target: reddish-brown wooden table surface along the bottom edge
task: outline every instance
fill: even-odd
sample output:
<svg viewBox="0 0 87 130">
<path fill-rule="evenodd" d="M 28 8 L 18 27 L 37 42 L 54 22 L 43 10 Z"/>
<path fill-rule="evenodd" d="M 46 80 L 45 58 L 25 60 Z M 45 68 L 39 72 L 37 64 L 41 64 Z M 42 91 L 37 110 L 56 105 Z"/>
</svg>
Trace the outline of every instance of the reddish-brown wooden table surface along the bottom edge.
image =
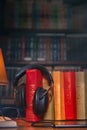
<svg viewBox="0 0 87 130">
<path fill-rule="evenodd" d="M 23 119 L 16 119 L 17 127 L 9 128 L 9 130 L 87 130 L 87 128 L 53 128 L 53 127 L 34 127 L 31 123 L 26 122 Z M 0 130 L 8 130 L 8 128 L 0 128 Z"/>
</svg>

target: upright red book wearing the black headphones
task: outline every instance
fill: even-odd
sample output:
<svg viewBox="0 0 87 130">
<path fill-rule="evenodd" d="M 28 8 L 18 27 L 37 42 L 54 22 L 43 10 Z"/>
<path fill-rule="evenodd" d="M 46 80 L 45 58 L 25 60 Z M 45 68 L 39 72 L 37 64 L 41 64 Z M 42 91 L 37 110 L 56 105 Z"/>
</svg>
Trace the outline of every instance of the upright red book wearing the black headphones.
<svg viewBox="0 0 87 130">
<path fill-rule="evenodd" d="M 42 73 L 37 69 L 26 70 L 26 120 L 30 122 L 39 121 L 41 117 L 34 114 L 33 98 L 38 87 L 42 86 Z"/>
</svg>

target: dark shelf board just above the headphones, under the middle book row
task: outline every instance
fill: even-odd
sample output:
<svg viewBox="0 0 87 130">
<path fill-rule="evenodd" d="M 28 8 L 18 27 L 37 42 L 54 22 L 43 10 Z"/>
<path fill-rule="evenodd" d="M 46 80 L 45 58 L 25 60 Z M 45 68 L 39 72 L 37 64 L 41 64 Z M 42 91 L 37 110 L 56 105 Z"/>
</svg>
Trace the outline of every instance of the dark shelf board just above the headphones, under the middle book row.
<svg viewBox="0 0 87 130">
<path fill-rule="evenodd" d="M 28 64 L 41 64 L 44 66 L 81 66 L 81 67 L 87 67 L 87 61 L 55 61 L 55 62 L 47 62 L 47 61 L 11 61 L 11 62 L 6 62 L 6 66 L 25 66 Z"/>
</svg>

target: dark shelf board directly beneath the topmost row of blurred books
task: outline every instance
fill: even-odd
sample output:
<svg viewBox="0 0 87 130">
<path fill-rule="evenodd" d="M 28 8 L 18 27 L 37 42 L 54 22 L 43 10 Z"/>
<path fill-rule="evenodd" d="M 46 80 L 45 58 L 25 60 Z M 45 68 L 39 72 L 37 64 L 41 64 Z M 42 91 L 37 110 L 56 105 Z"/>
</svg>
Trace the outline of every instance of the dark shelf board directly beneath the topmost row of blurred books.
<svg viewBox="0 0 87 130">
<path fill-rule="evenodd" d="M 56 36 L 66 36 L 67 34 L 78 34 L 81 33 L 79 30 L 74 29 L 19 29 L 19 28 L 6 28 L 0 30 L 0 35 L 17 35 L 17 34 L 26 34 L 26 35 L 55 35 Z"/>
</svg>

